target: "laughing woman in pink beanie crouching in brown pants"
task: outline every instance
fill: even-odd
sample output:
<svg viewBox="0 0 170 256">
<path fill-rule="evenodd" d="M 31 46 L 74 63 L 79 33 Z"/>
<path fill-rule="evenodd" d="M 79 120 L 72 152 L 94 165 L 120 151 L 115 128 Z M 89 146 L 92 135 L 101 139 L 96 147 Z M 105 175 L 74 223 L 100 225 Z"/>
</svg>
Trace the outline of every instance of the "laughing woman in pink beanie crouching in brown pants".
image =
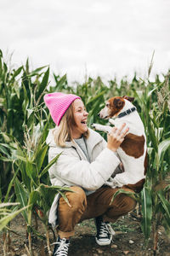
<svg viewBox="0 0 170 256">
<path fill-rule="evenodd" d="M 71 187 L 75 192 L 65 193 L 69 205 L 57 195 L 50 209 L 49 223 L 57 226 L 59 235 L 53 255 L 68 255 L 75 225 L 88 218 L 95 220 L 96 242 L 100 246 L 109 245 L 112 240 L 109 222 L 114 223 L 136 205 L 125 194 L 117 195 L 111 203 L 117 188 L 105 185 L 120 165 L 116 149 L 128 128 L 123 129 L 125 124 L 120 129 L 114 127 L 106 143 L 99 133 L 88 128 L 88 112 L 79 96 L 55 92 L 45 95 L 44 102 L 56 125 L 47 138 L 48 160 L 61 153 L 49 169 L 51 183 Z"/>
</svg>

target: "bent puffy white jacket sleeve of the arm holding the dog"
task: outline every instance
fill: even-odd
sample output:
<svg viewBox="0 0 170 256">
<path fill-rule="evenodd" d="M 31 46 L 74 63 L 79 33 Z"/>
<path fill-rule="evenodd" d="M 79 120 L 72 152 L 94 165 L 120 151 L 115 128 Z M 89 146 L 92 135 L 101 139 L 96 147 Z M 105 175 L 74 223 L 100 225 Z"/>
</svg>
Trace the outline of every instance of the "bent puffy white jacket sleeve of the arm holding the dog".
<svg viewBox="0 0 170 256">
<path fill-rule="evenodd" d="M 56 151 L 54 148 L 50 152 L 49 148 L 50 159 L 59 153 L 59 150 Z M 120 160 L 109 148 L 103 149 L 92 163 L 80 160 L 78 154 L 77 156 L 68 154 L 64 149 L 57 162 L 49 169 L 49 173 L 51 177 L 62 180 L 65 185 L 77 185 L 83 189 L 95 190 L 111 177 L 119 164 Z"/>
</svg>

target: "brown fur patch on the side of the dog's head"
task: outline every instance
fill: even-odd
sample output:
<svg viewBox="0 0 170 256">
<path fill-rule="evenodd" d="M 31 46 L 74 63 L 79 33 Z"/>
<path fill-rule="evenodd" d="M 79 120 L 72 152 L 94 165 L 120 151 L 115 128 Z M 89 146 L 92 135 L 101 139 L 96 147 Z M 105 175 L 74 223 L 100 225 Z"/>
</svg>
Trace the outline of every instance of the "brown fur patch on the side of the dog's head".
<svg viewBox="0 0 170 256">
<path fill-rule="evenodd" d="M 113 117 L 116 113 L 119 113 L 125 105 L 124 99 L 118 96 L 109 99 L 108 103 L 108 108 L 110 109 L 110 117 Z"/>
</svg>

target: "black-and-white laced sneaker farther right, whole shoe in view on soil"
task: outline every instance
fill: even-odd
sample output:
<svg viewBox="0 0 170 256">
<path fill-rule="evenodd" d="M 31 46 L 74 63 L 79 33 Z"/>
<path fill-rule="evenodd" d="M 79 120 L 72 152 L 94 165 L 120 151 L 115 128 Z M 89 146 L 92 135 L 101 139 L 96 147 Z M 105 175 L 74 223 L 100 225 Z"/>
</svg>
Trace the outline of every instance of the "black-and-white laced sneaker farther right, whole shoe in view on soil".
<svg viewBox="0 0 170 256">
<path fill-rule="evenodd" d="M 111 228 L 111 224 L 104 222 L 101 216 L 94 219 L 97 228 L 97 236 L 95 241 L 99 246 L 110 245 L 115 231 Z"/>
</svg>

